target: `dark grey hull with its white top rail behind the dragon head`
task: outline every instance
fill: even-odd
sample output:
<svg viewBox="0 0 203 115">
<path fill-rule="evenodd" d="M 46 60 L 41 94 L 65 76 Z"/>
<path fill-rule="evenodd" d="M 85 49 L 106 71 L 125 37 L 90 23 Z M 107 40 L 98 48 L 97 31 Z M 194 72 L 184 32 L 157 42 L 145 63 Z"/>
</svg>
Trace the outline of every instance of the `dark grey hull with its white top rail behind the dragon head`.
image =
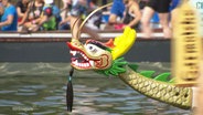
<svg viewBox="0 0 203 115">
<path fill-rule="evenodd" d="M 122 31 L 98 31 L 101 42 L 114 39 Z M 129 62 L 170 62 L 170 40 L 164 40 L 157 31 L 151 39 L 141 39 L 137 33 L 137 41 L 131 50 L 125 54 Z M 70 62 L 70 50 L 66 42 L 71 41 L 68 31 L 46 31 L 36 33 L 0 33 L 0 62 Z M 82 34 L 81 40 L 89 39 Z"/>
</svg>

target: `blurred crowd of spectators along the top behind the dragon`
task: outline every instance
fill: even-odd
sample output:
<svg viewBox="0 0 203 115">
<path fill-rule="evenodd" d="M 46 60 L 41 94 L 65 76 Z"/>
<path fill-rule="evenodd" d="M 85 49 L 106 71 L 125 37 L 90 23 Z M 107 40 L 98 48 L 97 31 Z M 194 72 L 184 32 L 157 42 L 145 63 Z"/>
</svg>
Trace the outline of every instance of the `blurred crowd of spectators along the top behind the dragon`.
<svg viewBox="0 0 203 115">
<path fill-rule="evenodd" d="M 99 2 L 98 2 L 99 1 Z M 107 4 L 107 0 L 62 0 L 58 8 L 54 0 L 0 0 L 1 31 L 42 31 L 78 29 L 92 11 Z M 164 38 L 171 38 L 170 12 L 179 0 L 113 0 L 113 6 L 90 17 L 83 31 L 131 27 L 150 38 L 151 23 L 159 22 Z M 154 20 L 154 14 L 157 19 Z M 76 21 L 79 19 L 78 21 Z M 76 22 L 76 23 L 75 23 Z M 96 35 L 92 33 L 93 35 Z M 75 33 L 75 38 L 77 33 Z"/>
</svg>

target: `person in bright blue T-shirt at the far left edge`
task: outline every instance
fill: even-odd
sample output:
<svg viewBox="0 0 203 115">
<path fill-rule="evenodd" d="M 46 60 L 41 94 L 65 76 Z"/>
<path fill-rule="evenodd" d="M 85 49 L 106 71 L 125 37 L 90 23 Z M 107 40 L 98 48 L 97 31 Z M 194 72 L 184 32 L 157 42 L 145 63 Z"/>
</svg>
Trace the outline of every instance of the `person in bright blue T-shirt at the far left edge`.
<svg viewBox="0 0 203 115">
<path fill-rule="evenodd" d="M 15 7 L 11 4 L 11 0 L 2 0 L 2 4 L 4 12 L 0 22 L 1 31 L 17 31 L 18 14 Z"/>
</svg>

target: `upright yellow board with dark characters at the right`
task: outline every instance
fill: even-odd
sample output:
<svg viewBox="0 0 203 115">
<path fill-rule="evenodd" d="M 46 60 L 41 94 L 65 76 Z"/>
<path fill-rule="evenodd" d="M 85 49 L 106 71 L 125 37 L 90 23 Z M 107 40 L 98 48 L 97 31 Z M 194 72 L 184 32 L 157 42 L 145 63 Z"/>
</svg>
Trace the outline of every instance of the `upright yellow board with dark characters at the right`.
<svg viewBox="0 0 203 115">
<path fill-rule="evenodd" d="M 202 39 L 194 7 L 188 0 L 177 9 L 172 39 L 172 76 L 180 86 L 194 86 L 200 77 Z"/>
</svg>

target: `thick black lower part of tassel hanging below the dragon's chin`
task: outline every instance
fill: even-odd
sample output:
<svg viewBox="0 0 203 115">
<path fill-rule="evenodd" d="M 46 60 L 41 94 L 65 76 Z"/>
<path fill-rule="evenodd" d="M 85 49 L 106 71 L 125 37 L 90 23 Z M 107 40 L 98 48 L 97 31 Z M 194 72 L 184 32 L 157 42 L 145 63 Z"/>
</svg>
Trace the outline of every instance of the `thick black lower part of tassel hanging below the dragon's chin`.
<svg viewBox="0 0 203 115">
<path fill-rule="evenodd" d="M 73 107 L 73 85 L 72 82 L 68 81 L 67 83 L 67 88 L 66 88 L 66 106 L 67 106 L 67 112 L 72 112 Z"/>
</svg>

